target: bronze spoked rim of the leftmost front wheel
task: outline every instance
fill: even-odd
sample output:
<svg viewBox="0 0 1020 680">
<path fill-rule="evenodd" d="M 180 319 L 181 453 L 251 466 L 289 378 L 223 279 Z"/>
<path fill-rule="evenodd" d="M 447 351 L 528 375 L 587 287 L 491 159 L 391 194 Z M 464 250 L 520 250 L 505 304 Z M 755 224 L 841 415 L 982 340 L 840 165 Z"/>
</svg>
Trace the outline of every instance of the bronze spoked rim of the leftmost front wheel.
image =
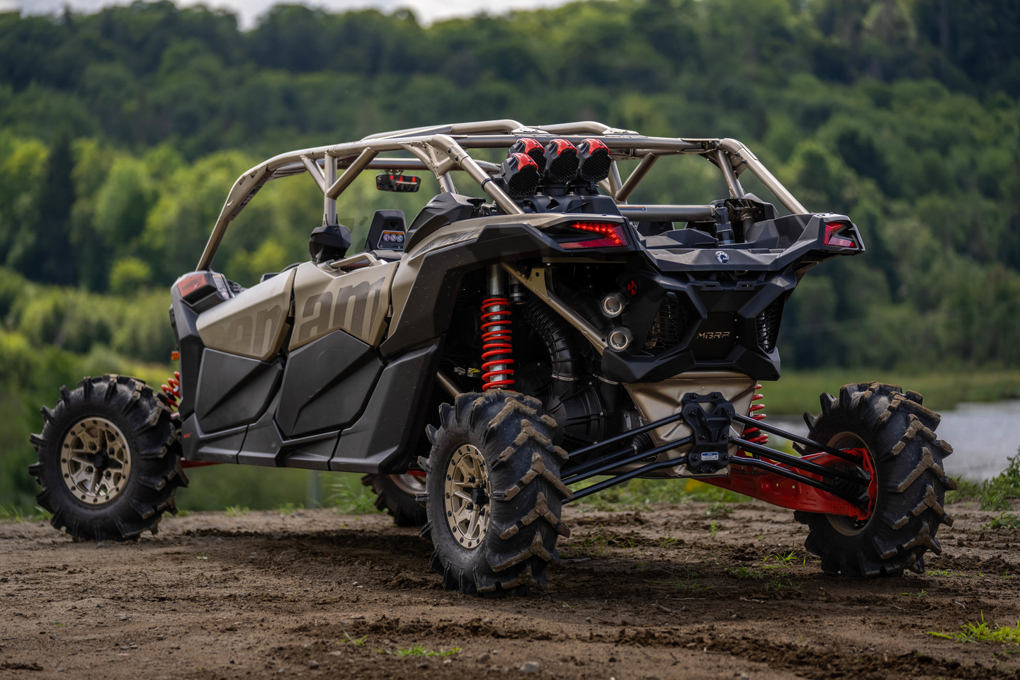
<svg viewBox="0 0 1020 680">
<path fill-rule="evenodd" d="M 106 418 L 83 418 L 60 447 L 60 472 L 75 499 L 101 506 L 120 494 L 131 477 L 131 449 Z"/>
</svg>

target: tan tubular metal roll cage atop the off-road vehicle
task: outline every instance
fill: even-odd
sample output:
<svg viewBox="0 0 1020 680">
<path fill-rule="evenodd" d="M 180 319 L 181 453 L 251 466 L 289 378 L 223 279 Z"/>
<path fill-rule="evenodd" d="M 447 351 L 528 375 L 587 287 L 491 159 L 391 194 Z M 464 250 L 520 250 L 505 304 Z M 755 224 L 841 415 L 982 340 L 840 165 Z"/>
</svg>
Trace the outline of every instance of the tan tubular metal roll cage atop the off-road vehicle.
<svg viewBox="0 0 1020 680">
<path fill-rule="evenodd" d="M 680 215 L 681 218 L 690 215 L 694 219 L 701 219 L 704 215 L 711 214 L 707 205 L 626 205 L 626 199 L 659 157 L 680 154 L 704 156 L 718 165 L 731 198 L 744 195 L 737 177 L 745 170 L 750 170 L 786 210 L 794 214 L 808 212 L 762 165 L 758 157 L 736 140 L 644 137 L 633 130 L 610 127 L 593 120 L 539 127 L 528 127 L 510 119 L 486 120 L 379 133 L 358 142 L 299 149 L 263 161 L 238 177 L 231 188 L 197 269 L 208 269 L 212 265 L 227 224 L 267 181 L 304 172 L 309 173 L 322 192 L 323 213 L 330 216 L 336 215 L 337 197 L 361 171 L 367 169 L 428 170 L 440 180 L 443 190 L 448 192 L 455 189 L 449 172 L 463 171 L 505 213 L 521 214 L 523 211 L 517 204 L 493 181 L 492 175 L 499 171 L 499 166 L 472 158 L 467 152 L 469 149 L 506 149 L 521 137 L 530 137 L 543 145 L 555 138 L 569 140 L 575 145 L 584 139 L 595 138 L 605 144 L 610 151 L 612 165 L 609 177 L 600 182 L 600 187 L 613 200 L 622 204 L 620 211 L 624 215 L 627 215 L 628 207 L 634 216 L 646 217 L 651 214 Z M 379 157 L 379 154 L 387 152 L 409 153 L 413 157 Z M 641 162 L 626 179 L 621 179 L 617 161 L 626 159 L 638 159 Z M 338 176 L 339 170 L 344 172 Z"/>
</svg>

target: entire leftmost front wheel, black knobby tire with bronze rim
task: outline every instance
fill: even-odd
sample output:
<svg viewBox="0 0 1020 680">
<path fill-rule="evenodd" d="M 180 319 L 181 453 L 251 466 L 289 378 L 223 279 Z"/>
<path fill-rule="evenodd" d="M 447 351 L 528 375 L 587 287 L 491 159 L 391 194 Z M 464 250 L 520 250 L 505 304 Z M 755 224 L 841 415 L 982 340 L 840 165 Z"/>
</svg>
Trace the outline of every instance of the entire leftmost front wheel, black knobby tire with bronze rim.
<svg viewBox="0 0 1020 680">
<path fill-rule="evenodd" d="M 60 388 L 33 434 L 38 461 L 29 467 L 50 523 L 83 540 L 129 540 L 156 532 L 173 495 L 188 481 L 181 469 L 170 411 L 143 381 L 104 375 Z"/>
</svg>

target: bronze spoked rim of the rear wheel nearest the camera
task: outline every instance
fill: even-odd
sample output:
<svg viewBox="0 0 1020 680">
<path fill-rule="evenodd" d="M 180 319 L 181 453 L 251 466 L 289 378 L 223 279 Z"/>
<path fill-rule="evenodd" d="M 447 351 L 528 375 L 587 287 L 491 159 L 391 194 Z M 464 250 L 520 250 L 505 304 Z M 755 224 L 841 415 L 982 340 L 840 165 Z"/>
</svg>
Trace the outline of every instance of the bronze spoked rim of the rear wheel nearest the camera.
<svg viewBox="0 0 1020 680">
<path fill-rule="evenodd" d="M 477 547 L 489 530 L 492 495 L 486 460 L 477 447 L 465 443 L 454 452 L 443 488 L 447 525 L 454 538 L 464 547 Z"/>
</svg>

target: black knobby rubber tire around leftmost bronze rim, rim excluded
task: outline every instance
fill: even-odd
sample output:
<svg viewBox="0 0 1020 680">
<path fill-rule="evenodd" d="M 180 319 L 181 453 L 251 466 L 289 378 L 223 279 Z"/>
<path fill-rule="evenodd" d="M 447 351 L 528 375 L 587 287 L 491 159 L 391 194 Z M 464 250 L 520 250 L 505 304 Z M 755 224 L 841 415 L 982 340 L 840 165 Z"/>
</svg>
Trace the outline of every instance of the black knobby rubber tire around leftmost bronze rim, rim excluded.
<svg viewBox="0 0 1020 680">
<path fill-rule="evenodd" d="M 88 377 L 72 390 L 62 386 L 56 407 L 43 407 L 42 413 L 43 431 L 31 436 L 38 459 L 29 472 L 42 487 L 36 503 L 53 514 L 55 528 L 80 540 L 133 540 L 146 529 L 156 533 L 164 512 L 176 513 L 174 493 L 188 485 L 177 427 L 145 382 L 123 375 Z M 96 506 L 71 491 L 61 468 L 65 437 L 89 418 L 105 419 L 120 430 L 131 461 L 123 488 Z"/>
</svg>

